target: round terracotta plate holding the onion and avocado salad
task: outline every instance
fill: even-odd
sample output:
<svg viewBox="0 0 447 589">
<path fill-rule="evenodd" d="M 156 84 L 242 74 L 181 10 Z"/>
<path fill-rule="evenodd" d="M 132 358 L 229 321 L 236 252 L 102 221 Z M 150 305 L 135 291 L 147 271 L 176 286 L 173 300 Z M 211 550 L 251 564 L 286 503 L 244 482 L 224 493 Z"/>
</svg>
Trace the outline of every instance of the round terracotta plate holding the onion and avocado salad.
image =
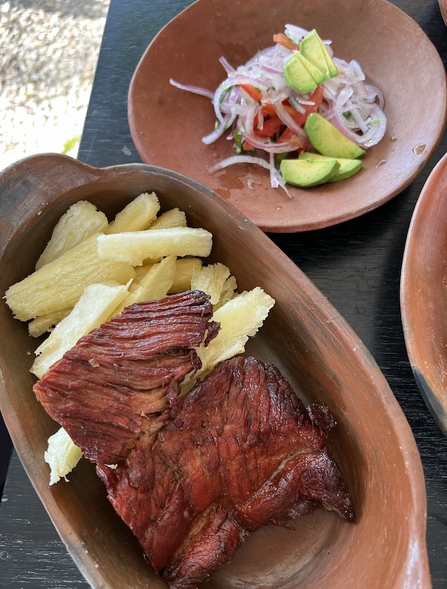
<svg viewBox="0 0 447 589">
<path fill-rule="evenodd" d="M 314 188 L 271 188 L 268 171 L 238 164 L 208 169 L 235 155 L 226 136 L 206 146 L 215 125 L 208 98 L 169 80 L 215 91 L 237 67 L 273 45 L 287 23 L 316 28 L 336 57 L 360 63 L 384 93 L 382 141 L 345 181 Z M 417 50 L 415 50 L 417 47 Z M 403 65 L 404 63 L 404 65 Z M 417 100 L 417 93 L 424 100 Z M 270 232 L 327 227 L 364 214 L 402 192 L 439 144 L 446 122 L 446 73 L 435 46 L 407 14 L 385 0 L 198 0 L 168 23 L 146 49 L 129 88 L 129 125 L 142 161 L 188 175 L 215 190 Z M 411 124 L 408 124 L 411 121 Z"/>
</svg>

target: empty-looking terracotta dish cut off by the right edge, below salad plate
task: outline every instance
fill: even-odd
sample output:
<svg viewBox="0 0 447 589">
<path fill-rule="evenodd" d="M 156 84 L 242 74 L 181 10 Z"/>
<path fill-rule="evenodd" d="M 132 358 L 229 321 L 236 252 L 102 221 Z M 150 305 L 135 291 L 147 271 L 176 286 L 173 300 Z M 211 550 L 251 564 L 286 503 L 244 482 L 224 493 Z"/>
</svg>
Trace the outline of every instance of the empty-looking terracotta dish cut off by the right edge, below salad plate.
<svg viewBox="0 0 447 589">
<path fill-rule="evenodd" d="M 411 368 L 447 436 L 447 155 L 417 200 L 406 240 L 400 304 Z"/>
</svg>

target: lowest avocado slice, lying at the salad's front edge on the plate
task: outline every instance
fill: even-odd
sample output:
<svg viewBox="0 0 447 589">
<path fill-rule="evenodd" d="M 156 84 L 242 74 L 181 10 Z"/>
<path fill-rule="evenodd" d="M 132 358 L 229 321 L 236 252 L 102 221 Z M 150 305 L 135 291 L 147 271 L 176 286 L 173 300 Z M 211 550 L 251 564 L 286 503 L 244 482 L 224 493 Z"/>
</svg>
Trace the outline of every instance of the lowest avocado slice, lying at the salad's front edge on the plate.
<svg viewBox="0 0 447 589">
<path fill-rule="evenodd" d="M 340 164 L 336 159 L 311 162 L 308 159 L 283 159 L 280 164 L 281 174 L 288 184 L 308 188 L 325 184 L 334 176 Z"/>
</svg>

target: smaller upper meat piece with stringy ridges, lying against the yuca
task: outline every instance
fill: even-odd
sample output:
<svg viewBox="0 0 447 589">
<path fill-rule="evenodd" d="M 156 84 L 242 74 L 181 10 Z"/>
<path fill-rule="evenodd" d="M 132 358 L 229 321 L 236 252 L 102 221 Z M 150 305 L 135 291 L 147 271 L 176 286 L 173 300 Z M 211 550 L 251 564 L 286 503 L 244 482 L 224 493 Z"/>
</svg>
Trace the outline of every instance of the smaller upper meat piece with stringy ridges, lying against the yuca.
<svg viewBox="0 0 447 589">
<path fill-rule="evenodd" d="M 36 397 L 89 460 L 117 463 L 161 427 L 179 383 L 200 368 L 193 346 L 217 333 L 211 317 L 200 291 L 133 304 L 82 337 L 34 385 Z"/>
</svg>

